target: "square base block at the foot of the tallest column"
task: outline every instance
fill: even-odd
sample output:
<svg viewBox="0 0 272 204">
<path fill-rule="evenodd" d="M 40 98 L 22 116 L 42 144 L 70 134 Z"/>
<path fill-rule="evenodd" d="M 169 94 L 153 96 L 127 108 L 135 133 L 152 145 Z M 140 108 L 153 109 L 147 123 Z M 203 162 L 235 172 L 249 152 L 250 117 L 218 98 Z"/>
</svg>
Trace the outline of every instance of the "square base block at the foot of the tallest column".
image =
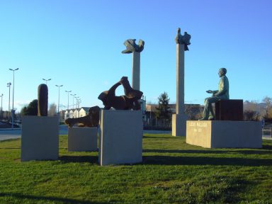
<svg viewBox="0 0 272 204">
<path fill-rule="evenodd" d="M 186 136 L 186 121 L 188 116 L 183 114 L 172 115 L 172 135 L 173 136 Z"/>
</svg>

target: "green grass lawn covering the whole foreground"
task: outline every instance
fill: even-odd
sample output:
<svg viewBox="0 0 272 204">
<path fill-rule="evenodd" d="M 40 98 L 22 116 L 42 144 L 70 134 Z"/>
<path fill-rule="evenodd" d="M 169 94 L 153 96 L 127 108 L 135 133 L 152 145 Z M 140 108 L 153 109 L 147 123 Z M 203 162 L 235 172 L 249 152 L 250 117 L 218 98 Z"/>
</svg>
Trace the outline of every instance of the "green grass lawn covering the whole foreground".
<svg viewBox="0 0 272 204">
<path fill-rule="evenodd" d="M 205 149 L 145 135 L 143 162 L 98 166 L 97 152 L 21 162 L 21 140 L 0 142 L 0 203 L 272 203 L 272 145 Z"/>
</svg>

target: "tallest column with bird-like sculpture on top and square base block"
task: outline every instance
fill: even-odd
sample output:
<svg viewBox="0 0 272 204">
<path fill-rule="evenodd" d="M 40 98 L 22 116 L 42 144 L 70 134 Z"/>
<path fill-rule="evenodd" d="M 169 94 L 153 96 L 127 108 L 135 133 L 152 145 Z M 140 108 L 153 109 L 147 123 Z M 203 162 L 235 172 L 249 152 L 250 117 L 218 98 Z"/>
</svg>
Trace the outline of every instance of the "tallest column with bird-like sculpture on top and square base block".
<svg viewBox="0 0 272 204">
<path fill-rule="evenodd" d="M 191 35 L 184 33 L 178 28 L 176 35 L 176 114 L 172 115 L 172 135 L 186 136 L 186 120 L 184 106 L 184 51 L 188 50 Z"/>
</svg>

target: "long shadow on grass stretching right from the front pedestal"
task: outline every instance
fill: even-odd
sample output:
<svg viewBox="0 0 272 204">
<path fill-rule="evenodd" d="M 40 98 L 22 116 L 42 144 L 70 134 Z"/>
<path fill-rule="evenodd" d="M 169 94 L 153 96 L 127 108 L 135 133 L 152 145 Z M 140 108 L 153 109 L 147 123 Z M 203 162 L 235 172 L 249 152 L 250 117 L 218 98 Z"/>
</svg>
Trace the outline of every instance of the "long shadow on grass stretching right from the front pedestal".
<svg viewBox="0 0 272 204">
<path fill-rule="evenodd" d="M 272 159 L 144 156 L 142 160 L 142 164 L 161 165 L 272 166 Z"/>
</svg>

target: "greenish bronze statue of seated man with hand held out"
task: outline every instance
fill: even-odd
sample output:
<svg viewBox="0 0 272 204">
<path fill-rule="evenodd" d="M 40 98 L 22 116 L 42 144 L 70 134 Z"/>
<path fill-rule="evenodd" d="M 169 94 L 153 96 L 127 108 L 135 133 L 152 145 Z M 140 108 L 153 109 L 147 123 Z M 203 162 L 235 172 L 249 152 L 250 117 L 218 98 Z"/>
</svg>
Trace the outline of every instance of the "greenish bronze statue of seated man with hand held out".
<svg viewBox="0 0 272 204">
<path fill-rule="evenodd" d="M 229 99 L 229 79 L 227 79 L 227 69 L 220 68 L 218 75 L 220 77 L 218 90 L 206 91 L 208 94 L 212 94 L 211 97 L 205 98 L 204 101 L 204 111 L 203 111 L 203 118 L 200 120 L 215 120 L 215 113 L 212 109 L 212 103 L 220 101 L 221 99 Z"/>
</svg>

